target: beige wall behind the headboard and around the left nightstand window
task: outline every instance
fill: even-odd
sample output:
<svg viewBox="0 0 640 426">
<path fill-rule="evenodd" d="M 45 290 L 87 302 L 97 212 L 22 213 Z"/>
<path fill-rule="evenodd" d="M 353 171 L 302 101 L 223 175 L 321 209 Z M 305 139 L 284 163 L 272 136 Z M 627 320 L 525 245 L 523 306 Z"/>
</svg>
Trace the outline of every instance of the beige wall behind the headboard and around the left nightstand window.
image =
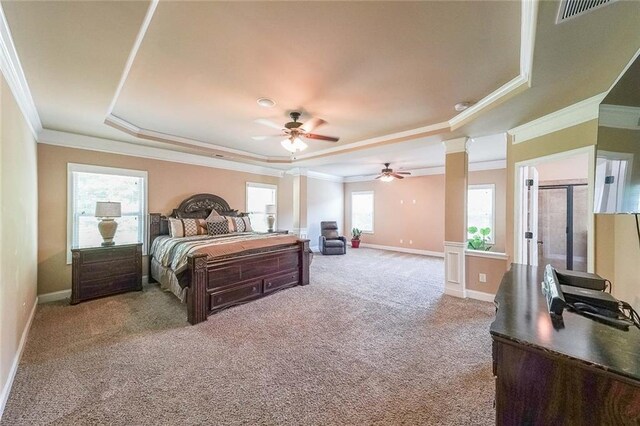
<svg viewBox="0 0 640 426">
<path fill-rule="evenodd" d="M 279 183 L 272 176 L 39 144 L 39 294 L 71 288 L 71 265 L 66 264 L 67 163 L 147 171 L 152 213 L 171 213 L 183 199 L 200 192 L 219 195 L 231 208 L 242 211 L 246 209 L 246 182 Z M 143 265 L 146 268 L 147 262 Z"/>
</svg>

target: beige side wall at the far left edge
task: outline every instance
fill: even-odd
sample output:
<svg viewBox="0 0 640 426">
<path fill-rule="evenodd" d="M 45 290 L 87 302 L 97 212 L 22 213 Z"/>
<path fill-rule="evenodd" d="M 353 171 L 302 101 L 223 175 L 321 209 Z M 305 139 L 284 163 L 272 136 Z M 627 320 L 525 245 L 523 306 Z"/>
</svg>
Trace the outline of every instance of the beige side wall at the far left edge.
<svg viewBox="0 0 640 426">
<path fill-rule="evenodd" d="M 36 143 L 4 78 L 0 88 L 0 415 L 11 366 L 36 303 Z"/>
</svg>

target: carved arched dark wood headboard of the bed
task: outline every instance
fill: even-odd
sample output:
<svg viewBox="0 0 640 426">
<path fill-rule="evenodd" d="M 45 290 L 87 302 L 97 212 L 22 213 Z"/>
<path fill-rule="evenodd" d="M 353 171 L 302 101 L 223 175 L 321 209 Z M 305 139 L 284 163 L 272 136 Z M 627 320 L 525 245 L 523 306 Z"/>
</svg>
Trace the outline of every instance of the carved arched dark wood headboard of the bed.
<svg viewBox="0 0 640 426">
<path fill-rule="evenodd" d="M 239 216 L 238 210 L 232 210 L 224 198 L 213 194 L 196 194 L 182 201 L 178 208 L 173 209 L 169 217 L 182 219 L 206 219 L 215 210 L 222 216 Z M 153 240 L 159 235 L 169 235 L 167 217 L 161 213 L 149 214 L 149 248 Z"/>
</svg>

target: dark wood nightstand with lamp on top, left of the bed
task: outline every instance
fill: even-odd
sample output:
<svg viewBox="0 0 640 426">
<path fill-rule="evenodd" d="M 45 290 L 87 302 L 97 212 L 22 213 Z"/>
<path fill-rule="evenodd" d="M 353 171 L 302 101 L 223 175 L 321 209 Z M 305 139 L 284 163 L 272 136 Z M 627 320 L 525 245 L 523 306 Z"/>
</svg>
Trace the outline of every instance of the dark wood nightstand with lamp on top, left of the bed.
<svg viewBox="0 0 640 426">
<path fill-rule="evenodd" d="M 71 249 L 71 304 L 142 290 L 142 243 Z"/>
</svg>

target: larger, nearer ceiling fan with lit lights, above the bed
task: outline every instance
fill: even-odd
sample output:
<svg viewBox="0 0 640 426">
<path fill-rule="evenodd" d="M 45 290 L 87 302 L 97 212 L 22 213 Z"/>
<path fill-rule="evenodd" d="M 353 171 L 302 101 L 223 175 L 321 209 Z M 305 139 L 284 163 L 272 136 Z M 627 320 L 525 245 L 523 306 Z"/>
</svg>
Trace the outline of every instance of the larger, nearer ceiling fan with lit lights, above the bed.
<svg viewBox="0 0 640 426">
<path fill-rule="evenodd" d="M 289 152 L 302 151 L 307 148 L 307 144 L 301 139 L 316 139 L 327 142 L 338 142 L 340 138 L 336 138 L 333 136 L 324 136 L 318 135 L 316 133 L 311 133 L 314 129 L 326 124 L 327 122 L 321 118 L 312 118 L 305 123 L 300 123 L 298 119 L 302 114 L 297 111 L 292 111 L 289 113 L 289 117 L 291 117 L 290 122 L 285 123 L 284 127 L 279 124 L 274 123 L 271 120 L 266 120 L 261 118 L 256 120 L 256 123 L 260 123 L 264 126 L 271 127 L 272 129 L 278 129 L 282 133 L 278 135 L 267 135 L 267 136 L 252 136 L 254 140 L 264 140 L 269 138 L 280 138 L 285 137 L 280 144 Z"/>
</svg>

